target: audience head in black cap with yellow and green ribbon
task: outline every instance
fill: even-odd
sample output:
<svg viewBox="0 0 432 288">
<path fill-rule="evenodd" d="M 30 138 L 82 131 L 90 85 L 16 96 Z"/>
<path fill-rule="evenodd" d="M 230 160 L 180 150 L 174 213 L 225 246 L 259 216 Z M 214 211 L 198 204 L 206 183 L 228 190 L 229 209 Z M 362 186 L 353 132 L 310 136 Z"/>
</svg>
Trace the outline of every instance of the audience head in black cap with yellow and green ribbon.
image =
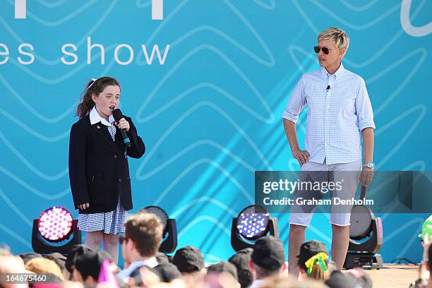
<svg viewBox="0 0 432 288">
<path fill-rule="evenodd" d="M 301 244 L 297 258 L 302 275 L 321 281 L 328 279 L 329 257 L 325 244 L 316 240 L 305 242 Z"/>
</svg>

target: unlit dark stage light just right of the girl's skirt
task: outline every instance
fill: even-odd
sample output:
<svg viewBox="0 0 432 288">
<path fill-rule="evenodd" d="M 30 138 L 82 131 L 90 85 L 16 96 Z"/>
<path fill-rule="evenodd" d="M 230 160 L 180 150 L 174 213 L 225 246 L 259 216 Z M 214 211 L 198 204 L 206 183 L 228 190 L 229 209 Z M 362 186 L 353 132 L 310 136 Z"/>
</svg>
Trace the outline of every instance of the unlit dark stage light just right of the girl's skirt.
<svg viewBox="0 0 432 288">
<path fill-rule="evenodd" d="M 172 253 L 177 248 L 177 225 L 175 219 L 169 219 L 167 212 L 158 206 L 147 206 L 143 208 L 145 212 L 155 214 L 162 222 L 163 234 L 162 243 L 159 251 L 162 253 Z"/>
</svg>

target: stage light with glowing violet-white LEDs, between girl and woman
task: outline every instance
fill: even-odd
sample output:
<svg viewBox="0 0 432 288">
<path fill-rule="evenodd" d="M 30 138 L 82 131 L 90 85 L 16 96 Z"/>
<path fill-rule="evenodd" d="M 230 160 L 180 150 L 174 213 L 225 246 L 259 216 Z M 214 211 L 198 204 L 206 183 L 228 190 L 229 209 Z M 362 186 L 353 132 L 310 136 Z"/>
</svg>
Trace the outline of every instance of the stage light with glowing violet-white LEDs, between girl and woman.
<svg viewBox="0 0 432 288">
<path fill-rule="evenodd" d="M 279 238 L 277 218 L 259 205 L 244 208 L 232 219 L 231 245 L 235 251 L 253 248 L 257 239 L 268 234 Z"/>
</svg>

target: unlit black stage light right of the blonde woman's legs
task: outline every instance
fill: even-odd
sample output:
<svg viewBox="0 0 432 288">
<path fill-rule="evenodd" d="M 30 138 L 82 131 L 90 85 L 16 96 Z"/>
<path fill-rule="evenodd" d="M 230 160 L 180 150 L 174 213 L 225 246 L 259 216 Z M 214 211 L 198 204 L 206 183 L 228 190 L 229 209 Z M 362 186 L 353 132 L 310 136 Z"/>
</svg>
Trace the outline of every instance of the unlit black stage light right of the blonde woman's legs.
<svg viewBox="0 0 432 288">
<path fill-rule="evenodd" d="M 366 199 L 366 187 L 361 186 L 360 199 Z M 344 268 L 371 266 L 383 268 L 383 258 L 376 253 L 383 246 L 383 224 L 365 205 L 354 205 L 349 226 L 349 246 Z"/>
</svg>

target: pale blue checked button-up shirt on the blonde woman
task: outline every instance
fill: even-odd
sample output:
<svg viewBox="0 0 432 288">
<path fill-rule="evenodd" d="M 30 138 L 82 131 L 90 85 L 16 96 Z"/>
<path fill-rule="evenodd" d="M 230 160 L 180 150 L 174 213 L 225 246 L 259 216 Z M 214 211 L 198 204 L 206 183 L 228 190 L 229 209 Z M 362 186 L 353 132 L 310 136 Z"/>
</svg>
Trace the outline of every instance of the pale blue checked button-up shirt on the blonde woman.
<svg viewBox="0 0 432 288">
<path fill-rule="evenodd" d="M 332 75 L 323 67 L 306 73 L 294 88 L 282 117 L 295 124 L 306 105 L 309 161 L 337 164 L 361 159 L 360 133 L 364 128 L 375 128 L 363 78 L 342 63 Z"/>
</svg>

